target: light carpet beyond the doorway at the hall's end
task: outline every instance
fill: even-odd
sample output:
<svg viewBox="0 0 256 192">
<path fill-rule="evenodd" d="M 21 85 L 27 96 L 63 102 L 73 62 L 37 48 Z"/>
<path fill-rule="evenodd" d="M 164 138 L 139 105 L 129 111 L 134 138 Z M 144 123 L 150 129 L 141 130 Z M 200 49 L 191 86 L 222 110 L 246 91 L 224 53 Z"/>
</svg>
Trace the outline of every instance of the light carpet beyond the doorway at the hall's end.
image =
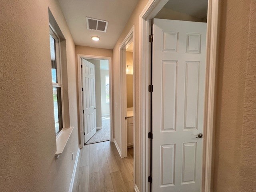
<svg viewBox="0 0 256 192">
<path fill-rule="evenodd" d="M 96 134 L 88 140 L 86 145 L 110 140 L 110 118 L 102 117 L 102 129 L 97 130 Z"/>
</svg>

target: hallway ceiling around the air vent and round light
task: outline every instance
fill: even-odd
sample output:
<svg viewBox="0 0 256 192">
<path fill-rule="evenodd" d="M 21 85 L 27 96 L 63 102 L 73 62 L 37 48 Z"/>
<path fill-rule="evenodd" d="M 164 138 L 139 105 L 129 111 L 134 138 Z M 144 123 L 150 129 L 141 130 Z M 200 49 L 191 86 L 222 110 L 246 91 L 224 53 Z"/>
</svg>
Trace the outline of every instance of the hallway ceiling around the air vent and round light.
<svg viewBox="0 0 256 192">
<path fill-rule="evenodd" d="M 59 0 L 76 45 L 113 49 L 138 0 Z M 108 21 L 107 32 L 86 28 L 86 16 Z M 91 36 L 99 36 L 95 42 Z"/>
</svg>

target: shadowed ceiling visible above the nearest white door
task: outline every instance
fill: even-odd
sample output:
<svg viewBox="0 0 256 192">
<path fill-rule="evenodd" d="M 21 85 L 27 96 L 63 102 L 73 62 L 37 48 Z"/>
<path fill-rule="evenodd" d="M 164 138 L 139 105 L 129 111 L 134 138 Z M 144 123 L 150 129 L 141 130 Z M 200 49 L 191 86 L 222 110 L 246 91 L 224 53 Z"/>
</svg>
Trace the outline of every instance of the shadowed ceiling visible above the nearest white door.
<svg viewBox="0 0 256 192">
<path fill-rule="evenodd" d="M 202 19 L 207 16 L 207 5 L 208 0 L 169 0 L 164 7 Z"/>
</svg>

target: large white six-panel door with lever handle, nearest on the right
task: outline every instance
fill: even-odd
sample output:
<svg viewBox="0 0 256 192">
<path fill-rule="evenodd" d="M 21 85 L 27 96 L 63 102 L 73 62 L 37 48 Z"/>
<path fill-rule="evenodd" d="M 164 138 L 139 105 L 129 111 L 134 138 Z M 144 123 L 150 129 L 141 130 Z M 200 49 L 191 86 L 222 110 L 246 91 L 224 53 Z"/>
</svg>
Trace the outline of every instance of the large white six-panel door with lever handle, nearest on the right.
<svg viewBox="0 0 256 192">
<path fill-rule="evenodd" d="M 200 192 L 206 23 L 153 20 L 152 189 Z"/>
</svg>

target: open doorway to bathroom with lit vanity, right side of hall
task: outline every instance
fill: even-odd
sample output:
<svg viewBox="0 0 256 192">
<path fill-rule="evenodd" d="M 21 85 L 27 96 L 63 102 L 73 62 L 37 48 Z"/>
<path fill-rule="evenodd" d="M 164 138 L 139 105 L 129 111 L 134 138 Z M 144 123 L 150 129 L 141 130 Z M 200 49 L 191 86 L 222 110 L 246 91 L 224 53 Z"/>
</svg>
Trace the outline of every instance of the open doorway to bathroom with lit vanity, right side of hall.
<svg viewBox="0 0 256 192">
<path fill-rule="evenodd" d="M 120 46 L 120 156 L 128 156 L 128 148 L 134 150 L 134 26 Z M 133 154 L 135 152 L 133 151 Z"/>
</svg>

